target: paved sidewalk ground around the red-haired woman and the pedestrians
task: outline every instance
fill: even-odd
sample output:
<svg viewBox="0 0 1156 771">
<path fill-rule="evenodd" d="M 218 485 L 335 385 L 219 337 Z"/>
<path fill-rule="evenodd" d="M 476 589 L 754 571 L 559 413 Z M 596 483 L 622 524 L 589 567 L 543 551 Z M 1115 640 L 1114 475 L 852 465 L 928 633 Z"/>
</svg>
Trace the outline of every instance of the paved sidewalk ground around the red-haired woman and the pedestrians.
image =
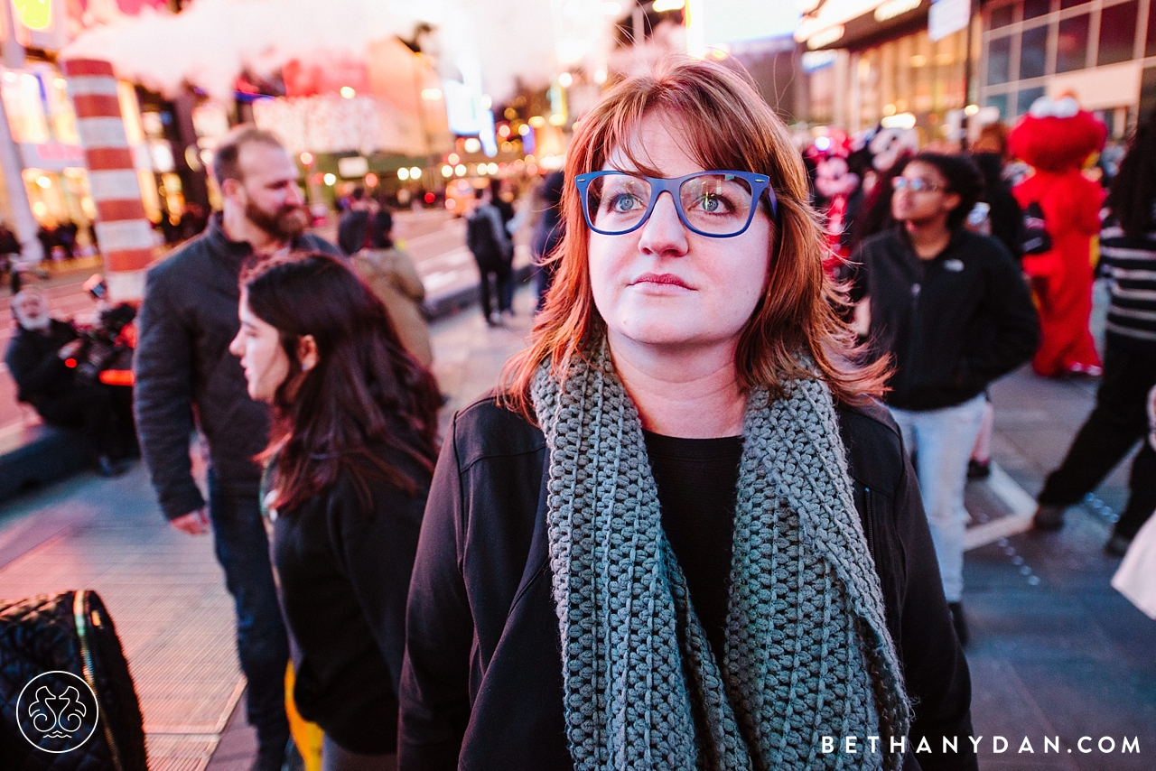
<svg viewBox="0 0 1156 771">
<path fill-rule="evenodd" d="M 520 289 L 518 316 L 502 328 L 487 327 L 476 309 L 432 326 L 435 370 L 450 395 L 444 421 L 496 383 L 529 329 L 532 303 Z M 1111 511 L 1126 496 L 1126 468 L 1074 507 L 1061 532 L 1023 532 L 1031 496 L 1094 395 L 1094 384 L 1029 371 L 992 388 L 996 469 L 969 485 L 973 548 L 964 571 L 972 716 L 985 771 L 1156 768 L 1156 622 L 1109 586 L 1118 561 L 1102 551 Z M 76 477 L 0 506 L 0 587 L 8 598 L 77 587 L 101 593 L 141 696 L 154 771 L 249 768 L 255 744 L 244 710 L 235 709 L 244 681 L 212 543 L 164 524 L 143 468 L 117 480 Z M 1005 751 L 993 751 L 994 736 L 1007 741 Z M 1081 748 L 1082 736 L 1091 740 Z M 1057 737 L 1059 751 L 1045 748 L 1045 739 Z M 1133 737 L 1139 754 L 1121 754 Z M 1110 742 L 1112 751 L 1102 753 Z"/>
</svg>

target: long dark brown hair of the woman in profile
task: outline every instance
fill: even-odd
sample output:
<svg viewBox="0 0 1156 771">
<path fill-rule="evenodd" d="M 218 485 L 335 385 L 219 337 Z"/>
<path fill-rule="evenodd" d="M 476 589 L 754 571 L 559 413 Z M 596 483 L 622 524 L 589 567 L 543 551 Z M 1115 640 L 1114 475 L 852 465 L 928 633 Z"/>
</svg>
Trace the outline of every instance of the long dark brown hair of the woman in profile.
<svg viewBox="0 0 1156 771">
<path fill-rule="evenodd" d="M 244 274 L 242 287 L 253 314 L 280 333 L 290 363 L 273 400 L 269 445 L 259 455 L 275 465 L 273 506 L 298 506 L 342 470 L 366 506 L 372 480 L 409 495 L 424 487 L 437 459 L 440 396 L 373 292 L 320 253 L 262 262 Z M 304 335 L 313 336 L 318 353 L 307 372 L 297 357 Z M 425 479 L 383 458 L 383 446 L 414 460 Z"/>
</svg>

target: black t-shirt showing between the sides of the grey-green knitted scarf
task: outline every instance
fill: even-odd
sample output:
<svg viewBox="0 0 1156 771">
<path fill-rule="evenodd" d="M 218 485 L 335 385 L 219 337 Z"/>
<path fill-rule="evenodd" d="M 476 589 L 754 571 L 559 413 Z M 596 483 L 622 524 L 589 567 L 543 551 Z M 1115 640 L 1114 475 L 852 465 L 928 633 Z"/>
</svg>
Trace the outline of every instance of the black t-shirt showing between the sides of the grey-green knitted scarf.
<svg viewBox="0 0 1156 771">
<path fill-rule="evenodd" d="M 662 529 L 721 663 L 742 437 L 681 439 L 650 431 L 644 436 L 662 507 Z"/>
</svg>

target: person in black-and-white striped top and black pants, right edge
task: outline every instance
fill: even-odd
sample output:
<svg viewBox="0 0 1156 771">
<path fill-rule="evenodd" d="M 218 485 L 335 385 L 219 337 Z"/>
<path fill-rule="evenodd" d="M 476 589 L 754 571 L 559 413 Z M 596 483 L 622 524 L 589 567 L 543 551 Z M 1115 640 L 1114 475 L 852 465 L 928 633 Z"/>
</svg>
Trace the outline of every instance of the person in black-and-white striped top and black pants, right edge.
<svg viewBox="0 0 1156 771">
<path fill-rule="evenodd" d="M 1107 195 L 1110 218 L 1099 242 L 1110 303 L 1104 332 L 1104 376 L 1096 407 L 1064 462 L 1039 494 L 1035 525 L 1064 526 L 1064 510 L 1096 489 L 1142 439 L 1147 395 L 1156 386 L 1156 112 L 1120 163 Z M 1156 450 L 1143 443 L 1132 461 L 1128 503 L 1105 550 L 1122 556 L 1156 510 Z"/>
</svg>

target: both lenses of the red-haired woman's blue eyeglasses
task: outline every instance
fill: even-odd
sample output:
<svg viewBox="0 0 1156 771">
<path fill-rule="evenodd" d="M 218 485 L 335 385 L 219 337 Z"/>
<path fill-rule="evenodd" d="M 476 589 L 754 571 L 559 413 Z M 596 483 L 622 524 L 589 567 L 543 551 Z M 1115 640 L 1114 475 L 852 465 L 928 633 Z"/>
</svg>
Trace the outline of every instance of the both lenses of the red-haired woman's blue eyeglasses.
<svg viewBox="0 0 1156 771">
<path fill-rule="evenodd" d="M 651 195 L 651 184 L 644 177 L 595 177 L 586 192 L 590 221 L 600 232 L 627 232 L 646 214 Z M 725 173 L 698 175 L 682 183 L 675 203 L 694 230 L 728 236 L 742 230 L 750 216 L 750 184 Z"/>
</svg>

